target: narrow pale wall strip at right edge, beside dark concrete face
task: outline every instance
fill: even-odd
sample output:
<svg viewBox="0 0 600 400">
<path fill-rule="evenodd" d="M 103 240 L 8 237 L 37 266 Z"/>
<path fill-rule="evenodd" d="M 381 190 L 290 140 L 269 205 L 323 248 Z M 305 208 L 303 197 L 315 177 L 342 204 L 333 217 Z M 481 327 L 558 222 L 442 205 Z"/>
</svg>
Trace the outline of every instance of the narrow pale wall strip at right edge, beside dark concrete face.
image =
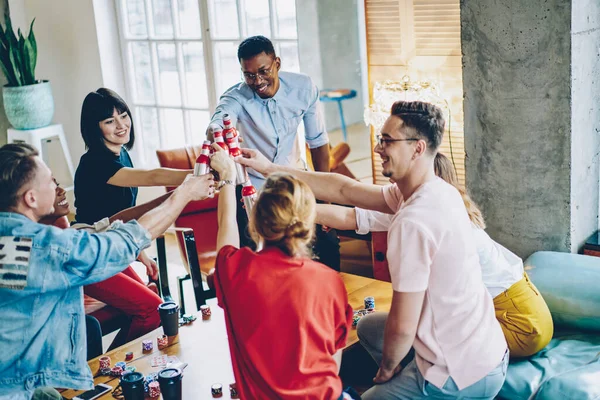
<svg viewBox="0 0 600 400">
<path fill-rule="evenodd" d="M 573 0 L 571 15 L 571 250 L 598 229 L 600 0 Z"/>
</svg>

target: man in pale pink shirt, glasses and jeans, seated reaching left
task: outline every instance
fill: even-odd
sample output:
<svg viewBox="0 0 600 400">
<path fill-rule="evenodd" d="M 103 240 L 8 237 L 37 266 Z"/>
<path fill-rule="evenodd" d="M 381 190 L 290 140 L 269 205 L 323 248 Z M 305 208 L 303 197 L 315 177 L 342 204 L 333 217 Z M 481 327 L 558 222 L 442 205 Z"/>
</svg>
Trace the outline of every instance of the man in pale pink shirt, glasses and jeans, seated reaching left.
<svg viewBox="0 0 600 400">
<path fill-rule="evenodd" d="M 319 199 L 394 214 L 390 312 L 368 315 L 358 325 L 361 343 L 379 364 L 376 385 L 364 399 L 493 399 L 504 383 L 506 341 L 482 281 L 469 217 L 458 191 L 434 173 L 444 125 L 432 104 L 392 106 L 375 148 L 383 174 L 395 182 L 385 189 L 276 166 L 252 150 L 238 160 L 265 175 L 293 173 Z M 413 346 L 415 359 L 401 368 Z"/>
</svg>

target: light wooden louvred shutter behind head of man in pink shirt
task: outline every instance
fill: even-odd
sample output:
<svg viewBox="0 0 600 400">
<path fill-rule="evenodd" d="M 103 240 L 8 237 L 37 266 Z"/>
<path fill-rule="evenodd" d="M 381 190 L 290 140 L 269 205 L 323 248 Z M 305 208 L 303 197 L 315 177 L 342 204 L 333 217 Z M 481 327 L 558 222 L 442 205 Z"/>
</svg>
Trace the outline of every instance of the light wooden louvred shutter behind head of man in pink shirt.
<svg viewBox="0 0 600 400">
<path fill-rule="evenodd" d="M 436 83 L 451 115 L 440 151 L 454 159 L 464 184 L 459 0 L 365 0 L 365 16 L 371 102 L 375 82 L 409 75 Z M 375 132 L 371 133 L 373 149 Z M 372 160 L 373 182 L 387 184 L 374 152 Z"/>
</svg>

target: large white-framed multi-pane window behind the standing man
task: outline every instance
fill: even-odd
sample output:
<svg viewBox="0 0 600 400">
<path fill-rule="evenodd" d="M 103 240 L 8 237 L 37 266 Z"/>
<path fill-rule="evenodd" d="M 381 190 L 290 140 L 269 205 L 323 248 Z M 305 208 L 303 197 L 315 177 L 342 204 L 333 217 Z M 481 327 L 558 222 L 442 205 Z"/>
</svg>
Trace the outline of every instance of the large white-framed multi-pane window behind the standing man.
<svg viewBox="0 0 600 400">
<path fill-rule="evenodd" d="M 116 0 L 136 148 L 200 144 L 219 96 L 241 81 L 243 38 L 273 41 L 282 69 L 299 71 L 295 0 Z"/>
</svg>

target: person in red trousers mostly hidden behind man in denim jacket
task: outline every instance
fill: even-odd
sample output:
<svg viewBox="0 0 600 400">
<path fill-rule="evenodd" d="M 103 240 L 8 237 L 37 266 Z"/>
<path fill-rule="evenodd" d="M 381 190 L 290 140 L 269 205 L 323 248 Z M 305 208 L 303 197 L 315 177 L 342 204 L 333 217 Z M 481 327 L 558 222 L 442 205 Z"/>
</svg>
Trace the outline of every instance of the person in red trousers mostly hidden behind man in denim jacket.
<svg viewBox="0 0 600 400">
<path fill-rule="evenodd" d="M 69 203 L 66 199 L 66 191 L 56 184 L 56 200 L 54 202 L 54 214 L 40 221 L 59 228 L 86 229 L 94 232 L 106 230 L 115 220 L 128 221 L 143 215 L 148 210 L 162 203 L 169 194 L 163 195 L 151 202 L 137 207 L 126 209 L 110 218 L 104 218 L 94 225 L 75 224 L 69 226 L 66 218 L 69 213 Z M 156 271 L 148 269 L 148 274 L 156 274 Z M 160 316 L 157 307 L 163 301 L 151 290 L 131 266 L 123 272 L 105 281 L 84 286 L 84 293 L 96 300 L 111 306 L 129 317 L 129 327 L 123 327 L 109 347 L 112 350 L 160 326 Z"/>
</svg>

